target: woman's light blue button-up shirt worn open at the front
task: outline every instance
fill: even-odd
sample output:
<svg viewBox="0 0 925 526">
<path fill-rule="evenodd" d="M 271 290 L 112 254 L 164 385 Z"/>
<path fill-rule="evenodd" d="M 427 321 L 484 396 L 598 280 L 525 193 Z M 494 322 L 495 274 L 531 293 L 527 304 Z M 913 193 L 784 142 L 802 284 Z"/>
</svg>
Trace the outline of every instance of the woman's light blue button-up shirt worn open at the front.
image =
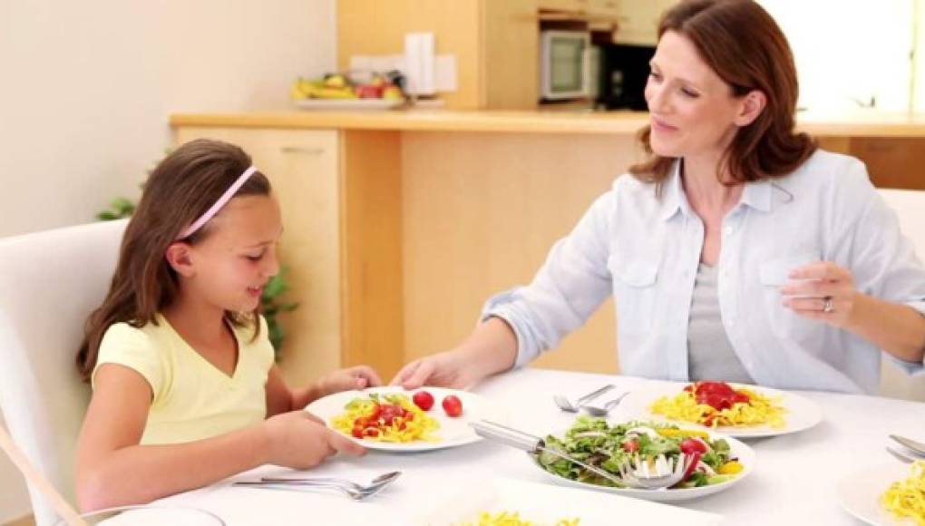
<svg viewBox="0 0 925 526">
<path fill-rule="evenodd" d="M 679 163 L 656 185 L 617 177 L 529 286 L 487 301 L 517 336 L 516 366 L 555 348 L 613 294 L 621 373 L 687 381 L 687 330 L 704 226 Z M 925 227 L 925 226 L 923 226 Z M 819 151 L 793 174 L 747 183 L 722 221 L 717 263 L 722 324 L 759 385 L 876 393 L 881 350 L 783 306 L 798 266 L 831 261 L 855 287 L 925 313 L 925 268 L 896 215 L 854 157 Z M 908 373 L 922 363 L 897 361 Z"/>
</svg>

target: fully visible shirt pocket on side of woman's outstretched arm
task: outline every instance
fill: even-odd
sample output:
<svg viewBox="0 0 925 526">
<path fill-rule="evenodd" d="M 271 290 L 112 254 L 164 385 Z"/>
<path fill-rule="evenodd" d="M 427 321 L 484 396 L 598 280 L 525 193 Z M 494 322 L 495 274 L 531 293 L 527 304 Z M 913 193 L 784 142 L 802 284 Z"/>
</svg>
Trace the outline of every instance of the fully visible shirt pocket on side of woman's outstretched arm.
<svg viewBox="0 0 925 526">
<path fill-rule="evenodd" d="M 645 332 L 652 326 L 655 313 L 659 260 L 626 259 L 611 256 L 607 267 L 613 275 L 613 297 L 617 304 L 618 330 Z"/>
</svg>

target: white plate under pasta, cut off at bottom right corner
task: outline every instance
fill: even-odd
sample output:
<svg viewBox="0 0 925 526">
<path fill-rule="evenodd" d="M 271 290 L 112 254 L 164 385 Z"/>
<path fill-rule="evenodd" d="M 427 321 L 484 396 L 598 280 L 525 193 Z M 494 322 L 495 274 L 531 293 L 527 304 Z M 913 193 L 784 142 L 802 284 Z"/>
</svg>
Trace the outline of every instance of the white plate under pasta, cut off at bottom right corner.
<svg viewBox="0 0 925 526">
<path fill-rule="evenodd" d="M 882 464 L 846 476 L 835 486 L 835 493 L 845 511 L 867 524 L 915 526 L 915 520 L 898 519 L 880 505 L 880 495 L 886 488 L 908 476 L 909 464 L 898 461 Z"/>
</svg>

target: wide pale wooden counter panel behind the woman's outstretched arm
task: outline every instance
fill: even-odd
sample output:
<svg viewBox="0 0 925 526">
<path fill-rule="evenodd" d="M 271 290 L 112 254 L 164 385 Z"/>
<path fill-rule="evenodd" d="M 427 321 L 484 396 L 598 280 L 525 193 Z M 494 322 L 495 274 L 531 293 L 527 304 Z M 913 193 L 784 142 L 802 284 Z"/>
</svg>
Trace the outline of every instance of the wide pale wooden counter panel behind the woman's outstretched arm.
<svg viewBox="0 0 925 526">
<path fill-rule="evenodd" d="M 406 132 L 406 360 L 458 344 L 485 300 L 529 283 L 634 158 L 629 136 Z M 536 365 L 613 373 L 614 328 L 608 305 Z"/>
</svg>

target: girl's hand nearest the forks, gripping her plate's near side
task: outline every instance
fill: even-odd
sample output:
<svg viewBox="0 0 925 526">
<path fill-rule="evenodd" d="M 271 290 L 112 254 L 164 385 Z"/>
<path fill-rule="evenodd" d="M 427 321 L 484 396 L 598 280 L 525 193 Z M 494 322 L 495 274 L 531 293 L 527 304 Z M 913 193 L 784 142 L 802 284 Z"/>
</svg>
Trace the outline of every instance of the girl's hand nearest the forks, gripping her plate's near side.
<svg viewBox="0 0 925 526">
<path fill-rule="evenodd" d="M 307 411 L 290 411 L 270 417 L 264 422 L 269 443 L 269 463 L 306 470 L 320 464 L 337 452 L 364 455 L 366 450 L 356 442 L 328 429 Z"/>
</svg>

